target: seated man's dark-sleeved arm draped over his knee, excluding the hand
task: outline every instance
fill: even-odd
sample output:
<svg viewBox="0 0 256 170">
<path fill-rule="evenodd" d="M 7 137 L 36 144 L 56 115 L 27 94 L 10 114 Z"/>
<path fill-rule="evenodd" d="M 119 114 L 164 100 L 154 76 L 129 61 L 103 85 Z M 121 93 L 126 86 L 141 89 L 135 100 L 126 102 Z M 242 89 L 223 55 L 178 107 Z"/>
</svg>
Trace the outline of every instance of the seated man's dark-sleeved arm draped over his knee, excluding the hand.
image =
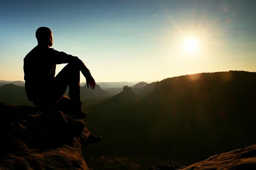
<svg viewBox="0 0 256 170">
<path fill-rule="evenodd" d="M 84 77 L 90 75 L 90 70 L 85 66 L 84 62 L 76 56 L 72 56 L 70 54 L 66 54 L 62 51 L 54 50 L 53 48 L 49 48 L 50 50 L 50 59 L 54 64 L 66 64 L 66 63 L 74 63 L 78 66 L 81 73 Z"/>
</svg>

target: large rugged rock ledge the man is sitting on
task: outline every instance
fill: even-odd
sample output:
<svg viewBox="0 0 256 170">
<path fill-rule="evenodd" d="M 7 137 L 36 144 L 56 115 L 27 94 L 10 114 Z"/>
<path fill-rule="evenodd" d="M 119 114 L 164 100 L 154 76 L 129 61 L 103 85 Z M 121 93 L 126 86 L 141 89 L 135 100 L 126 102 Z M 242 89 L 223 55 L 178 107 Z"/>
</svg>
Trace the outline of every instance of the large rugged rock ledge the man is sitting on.
<svg viewBox="0 0 256 170">
<path fill-rule="evenodd" d="M 88 170 L 81 145 L 90 136 L 61 111 L 0 103 L 0 170 Z"/>
</svg>

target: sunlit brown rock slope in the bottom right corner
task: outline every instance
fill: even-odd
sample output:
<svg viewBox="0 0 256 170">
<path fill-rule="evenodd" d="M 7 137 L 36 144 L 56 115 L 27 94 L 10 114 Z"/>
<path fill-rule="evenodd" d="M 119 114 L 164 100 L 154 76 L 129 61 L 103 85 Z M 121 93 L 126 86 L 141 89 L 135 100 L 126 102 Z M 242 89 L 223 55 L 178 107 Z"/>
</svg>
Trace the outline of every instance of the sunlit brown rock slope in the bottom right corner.
<svg viewBox="0 0 256 170">
<path fill-rule="evenodd" d="M 256 170 L 256 144 L 209 157 L 188 167 L 180 167 L 170 160 L 167 164 L 149 167 L 149 170 Z"/>
</svg>

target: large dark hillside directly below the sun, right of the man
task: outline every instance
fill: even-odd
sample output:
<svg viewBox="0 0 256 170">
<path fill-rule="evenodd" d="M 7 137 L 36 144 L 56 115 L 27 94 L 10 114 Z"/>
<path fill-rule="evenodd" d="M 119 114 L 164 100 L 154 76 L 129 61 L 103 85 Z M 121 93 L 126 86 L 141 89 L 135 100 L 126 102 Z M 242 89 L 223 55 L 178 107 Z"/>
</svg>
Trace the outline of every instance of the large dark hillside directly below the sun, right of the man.
<svg viewBox="0 0 256 170">
<path fill-rule="evenodd" d="M 91 157 L 148 156 L 192 164 L 255 143 L 255 72 L 201 73 L 149 85 L 154 90 L 127 97 L 125 104 L 119 102 L 126 97 L 121 93 L 104 107 L 87 106 L 88 127 L 105 138 L 86 149 Z"/>
</svg>

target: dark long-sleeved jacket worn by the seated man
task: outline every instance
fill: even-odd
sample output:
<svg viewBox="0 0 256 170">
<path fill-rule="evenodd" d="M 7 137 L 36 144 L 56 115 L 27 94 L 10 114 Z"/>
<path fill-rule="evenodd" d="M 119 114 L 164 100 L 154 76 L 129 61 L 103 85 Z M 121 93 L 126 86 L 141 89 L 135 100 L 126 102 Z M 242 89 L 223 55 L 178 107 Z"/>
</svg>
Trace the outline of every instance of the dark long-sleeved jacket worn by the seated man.
<svg viewBox="0 0 256 170">
<path fill-rule="evenodd" d="M 26 55 L 23 62 L 25 90 L 29 101 L 42 93 L 42 89 L 50 88 L 55 77 L 56 64 L 73 63 L 85 77 L 90 74 L 78 57 L 38 45 Z"/>
</svg>

